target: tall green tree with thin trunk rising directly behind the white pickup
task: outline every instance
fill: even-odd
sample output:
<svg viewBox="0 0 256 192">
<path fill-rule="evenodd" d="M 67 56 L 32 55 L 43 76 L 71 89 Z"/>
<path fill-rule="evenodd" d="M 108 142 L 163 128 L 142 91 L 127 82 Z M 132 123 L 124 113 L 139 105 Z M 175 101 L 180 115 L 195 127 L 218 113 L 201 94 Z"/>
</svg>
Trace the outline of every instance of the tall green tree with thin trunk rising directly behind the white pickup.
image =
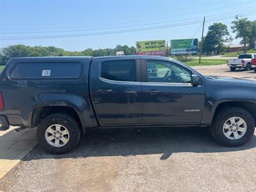
<svg viewBox="0 0 256 192">
<path fill-rule="evenodd" d="M 233 33 L 236 33 L 235 38 L 242 38 L 241 44 L 244 46 L 244 52 L 246 52 L 246 44 L 249 42 L 251 23 L 247 18 L 240 18 L 236 16 L 236 20 L 232 21 L 231 29 Z"/>
</svg>

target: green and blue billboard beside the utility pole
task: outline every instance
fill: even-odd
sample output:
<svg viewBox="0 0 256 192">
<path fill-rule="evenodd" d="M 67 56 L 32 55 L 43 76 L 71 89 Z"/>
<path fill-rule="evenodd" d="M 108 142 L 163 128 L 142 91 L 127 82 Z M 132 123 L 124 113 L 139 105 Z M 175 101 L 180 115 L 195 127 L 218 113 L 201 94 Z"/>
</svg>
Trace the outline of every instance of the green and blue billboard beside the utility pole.
<svg viewBox="0 0 256 192">
<path fill-rule="evenodd" d="M 195 54 L 197 52 L 197 38 L 171 40 L 171 54 Z"/>
</svg>

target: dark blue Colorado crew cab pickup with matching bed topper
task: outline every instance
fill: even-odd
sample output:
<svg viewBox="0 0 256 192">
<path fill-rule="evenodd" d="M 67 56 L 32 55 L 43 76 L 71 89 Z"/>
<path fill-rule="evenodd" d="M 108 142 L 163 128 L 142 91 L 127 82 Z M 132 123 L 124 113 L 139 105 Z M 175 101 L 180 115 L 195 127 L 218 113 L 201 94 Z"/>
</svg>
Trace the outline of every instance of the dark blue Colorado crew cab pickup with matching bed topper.
<svg viewBox="0 0 256 192">
<path fill-rule="evenodd" d="M 255 95 L 255 81 L 203 76 L 164 57 L 12 58 L 0 74 L 0 123 L 37 127 L 54 154 L 75 148 L 88 128 L 108 127 L 211 127 L 236 147 L 253 136 Z"/>
</svg>

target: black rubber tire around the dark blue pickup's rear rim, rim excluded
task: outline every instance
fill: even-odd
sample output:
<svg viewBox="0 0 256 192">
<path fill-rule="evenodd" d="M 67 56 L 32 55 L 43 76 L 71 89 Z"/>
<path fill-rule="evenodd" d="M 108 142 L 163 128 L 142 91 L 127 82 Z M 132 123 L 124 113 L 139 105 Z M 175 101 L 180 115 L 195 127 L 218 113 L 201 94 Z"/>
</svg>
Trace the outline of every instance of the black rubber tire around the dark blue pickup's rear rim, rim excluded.
<svg viewBox="0 0 256 192">
<path fill-rule="evenodd" d="M 69 132 L 69 140 L 63 147 L 54 147 L 45 139 L 45 131 L 54 124 L 63 125 Z M 77 146 L 81 137 L 81 129 L 72 116 L 64 113 L 55 113 L 47 116 L 40 124 L 36 132 L 36 138 L 39 145 L 51 154 L 65 154 Z"/>
</svg>

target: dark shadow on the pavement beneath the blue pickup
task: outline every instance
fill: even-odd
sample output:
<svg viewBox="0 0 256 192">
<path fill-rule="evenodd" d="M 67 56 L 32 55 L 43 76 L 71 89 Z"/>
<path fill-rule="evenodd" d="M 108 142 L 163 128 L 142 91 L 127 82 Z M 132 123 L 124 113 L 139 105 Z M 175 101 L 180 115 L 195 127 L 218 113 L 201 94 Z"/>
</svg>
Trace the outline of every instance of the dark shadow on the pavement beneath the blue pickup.
<svg viewBox="0 0 256 192">
<path fill-rule="evenodd" d="M 79 147 L 68 154 L 47 154 L 36 147 L 23 161 L 146 154 L 160 154 L 160 159 L 165 160 L 173 153 L 234 152 L 254 147 L 255 135 L 242 147 L 223 147 L 212 138 L 208 128 L 202 127 L 92 129 L 82 136 Z"/>
</svg>

